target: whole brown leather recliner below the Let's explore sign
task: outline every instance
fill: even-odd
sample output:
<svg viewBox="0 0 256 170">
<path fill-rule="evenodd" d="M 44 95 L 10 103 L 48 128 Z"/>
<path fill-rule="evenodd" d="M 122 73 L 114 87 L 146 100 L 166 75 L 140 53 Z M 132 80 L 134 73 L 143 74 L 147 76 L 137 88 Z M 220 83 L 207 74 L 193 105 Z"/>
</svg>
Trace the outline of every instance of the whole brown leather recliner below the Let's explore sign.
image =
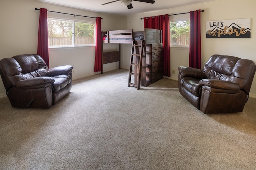
<svg viewBox="0 0 256 170">
<path fill-rule="evenodd" d="M 179 66 L 179 92 L 203 113 L 242 112 L 248 100 L 255 63 L 212 55 L 204 69 Z"/>
</svg>

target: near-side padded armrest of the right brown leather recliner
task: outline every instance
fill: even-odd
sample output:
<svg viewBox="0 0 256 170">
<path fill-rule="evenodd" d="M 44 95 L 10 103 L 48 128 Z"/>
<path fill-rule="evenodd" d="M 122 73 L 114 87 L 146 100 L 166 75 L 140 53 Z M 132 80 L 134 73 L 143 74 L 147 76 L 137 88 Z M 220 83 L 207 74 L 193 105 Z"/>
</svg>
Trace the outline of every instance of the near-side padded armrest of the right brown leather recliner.
<svg viewBox="0 0 256 170">
<path fill-rule="evenodd" d="M 240 90 L 238 84 L 218 79 L 202 79 L 200 80 L 199 85 L 223 90 Z"/>
</svg>

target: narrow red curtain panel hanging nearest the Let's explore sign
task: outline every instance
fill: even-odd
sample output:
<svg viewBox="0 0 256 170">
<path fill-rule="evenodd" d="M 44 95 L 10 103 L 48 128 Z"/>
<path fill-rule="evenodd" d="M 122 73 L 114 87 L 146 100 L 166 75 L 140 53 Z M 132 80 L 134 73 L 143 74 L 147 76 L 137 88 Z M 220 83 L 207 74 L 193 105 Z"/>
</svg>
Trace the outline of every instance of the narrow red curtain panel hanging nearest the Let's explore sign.
<svg viewBox="0 0 256 170">
<path fill-rule="evenodd" d="M 190 11 L 189 66 L 201 69 L 201 22 L 200 12 Z"/>
</svg>

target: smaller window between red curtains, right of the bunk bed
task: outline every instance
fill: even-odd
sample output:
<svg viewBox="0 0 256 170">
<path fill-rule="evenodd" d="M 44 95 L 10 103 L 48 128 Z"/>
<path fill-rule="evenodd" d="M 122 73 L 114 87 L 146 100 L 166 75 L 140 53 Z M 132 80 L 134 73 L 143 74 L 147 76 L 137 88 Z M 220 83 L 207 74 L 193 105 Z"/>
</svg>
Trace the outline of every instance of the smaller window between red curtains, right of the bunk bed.
<svg viewBox="0 0 256 170">
<path fill-rule="evenodd" d="M 189 21 L 170 22 L 170 46 L 189 46 Z"/>
</svg>

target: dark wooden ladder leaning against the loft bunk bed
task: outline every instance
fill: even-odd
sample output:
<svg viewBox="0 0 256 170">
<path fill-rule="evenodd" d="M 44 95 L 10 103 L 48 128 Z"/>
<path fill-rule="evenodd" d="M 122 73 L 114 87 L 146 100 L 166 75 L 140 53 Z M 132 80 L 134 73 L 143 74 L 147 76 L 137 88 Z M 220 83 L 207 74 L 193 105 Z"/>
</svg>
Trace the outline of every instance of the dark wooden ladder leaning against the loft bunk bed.
<svg viewBox="0 0 256 170">
<path fill-rule="evenodd" d="M 146 54 L 146 41 L 143 40 L 141 41 L 141 44 L 138 44 L 137 41 L 133 40 L 132 52 L 131 52 L 131 58 L 130 58 L 128 87 L 134 86 L 134 87 L 137 87 L 137 90 L 140 89 L 140 77 L 141 77 L 143 53 Z M 134 76 L 134 83 L 131 82 L 132 76 Z"/>
</svg>

